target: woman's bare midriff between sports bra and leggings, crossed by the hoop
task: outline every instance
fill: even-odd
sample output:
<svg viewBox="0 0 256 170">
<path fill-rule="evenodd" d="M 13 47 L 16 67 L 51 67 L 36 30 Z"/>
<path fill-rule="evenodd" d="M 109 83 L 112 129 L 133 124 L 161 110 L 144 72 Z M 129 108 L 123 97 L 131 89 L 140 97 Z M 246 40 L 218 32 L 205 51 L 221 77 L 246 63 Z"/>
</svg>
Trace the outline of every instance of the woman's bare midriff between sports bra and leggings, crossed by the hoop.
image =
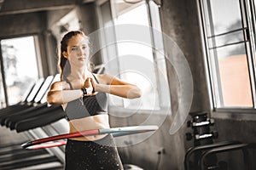
<svg viewBox="0 0 256 170">
<path fill-rule="evenodd" d="M 85 130 L 95 130 L 102 128 L 109 128 L 108 115 L 96 115 L 96 116 L 88 116 L 81 119 L 74 119 L 69 121 L 69 133 L 76 133 Z M 100 134 L 94 136 L 82 136 L 72 138 L 73 140 L 79 141 L 94 141 L 98 139 L 102 139 L 108 134 Z"/>
</svg>

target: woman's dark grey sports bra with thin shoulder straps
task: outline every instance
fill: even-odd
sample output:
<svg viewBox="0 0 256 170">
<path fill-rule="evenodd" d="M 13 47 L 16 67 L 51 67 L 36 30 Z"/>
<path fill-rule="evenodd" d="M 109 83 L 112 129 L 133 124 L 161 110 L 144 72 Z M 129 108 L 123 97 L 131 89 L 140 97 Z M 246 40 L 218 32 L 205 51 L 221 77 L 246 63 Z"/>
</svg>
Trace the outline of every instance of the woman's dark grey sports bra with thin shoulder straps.
<svg viewBox="0 0 256 170">
<path fill-rule="evenodd" d="M 99 83 L 94 75 L 93 77 L 96 82 Z M 67 77 L 65 77 L 64 80 L 70 85 L 70 88 L 73 89 Z M 65 113 L 68 121 L 84 118 L 86 116 L 108 114 L 107 94 L 98 92 L 96 95 L 84 96 L 83 99 L 70 101 L 67 103 Z"/>
</svg>

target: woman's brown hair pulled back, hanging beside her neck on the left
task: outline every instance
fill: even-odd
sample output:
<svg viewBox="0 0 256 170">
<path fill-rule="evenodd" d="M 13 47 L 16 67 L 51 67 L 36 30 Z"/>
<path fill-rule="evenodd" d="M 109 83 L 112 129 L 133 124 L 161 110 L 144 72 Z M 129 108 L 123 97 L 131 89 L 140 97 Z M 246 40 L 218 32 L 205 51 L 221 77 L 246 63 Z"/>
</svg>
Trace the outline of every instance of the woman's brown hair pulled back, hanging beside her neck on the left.
<svg viewBox="0 0 256 170">
<path fill-rule="evenodd" d="M 61 40 L 61 54 L 59 59 L 59 68 L 61 73 L 61 79 L 67 77 L 70 74 L 70 63 L 67 58 L 64 57 L 63 52 L 67 52 L 67 43 L 73 36 L 81 35 L 89 41 L 89 37 L 85 36 L 83 31 L 69 31 L 62 37 Z M 65 68 L 65 69 L 64 69 Z"/>
</svg>

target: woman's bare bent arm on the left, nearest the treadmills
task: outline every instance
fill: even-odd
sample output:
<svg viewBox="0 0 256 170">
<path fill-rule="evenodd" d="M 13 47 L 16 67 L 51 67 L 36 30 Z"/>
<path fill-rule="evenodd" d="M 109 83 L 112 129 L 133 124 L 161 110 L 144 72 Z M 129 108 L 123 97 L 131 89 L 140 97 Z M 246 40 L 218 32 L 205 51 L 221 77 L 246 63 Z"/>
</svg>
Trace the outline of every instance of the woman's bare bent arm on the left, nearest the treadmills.
<svg viewBox="0 0 256 170">
<path fill-rule="evenodd" d="M 67 88 L 66 82 L 54 82 L 49 88 L 49 92 L 47 94 L 47 102 L 50 105 L 62 105 L 74 99 L 79 99 L 82 96 L 83 92 L 81 89 L 70 90 Z"/>
</svg>

